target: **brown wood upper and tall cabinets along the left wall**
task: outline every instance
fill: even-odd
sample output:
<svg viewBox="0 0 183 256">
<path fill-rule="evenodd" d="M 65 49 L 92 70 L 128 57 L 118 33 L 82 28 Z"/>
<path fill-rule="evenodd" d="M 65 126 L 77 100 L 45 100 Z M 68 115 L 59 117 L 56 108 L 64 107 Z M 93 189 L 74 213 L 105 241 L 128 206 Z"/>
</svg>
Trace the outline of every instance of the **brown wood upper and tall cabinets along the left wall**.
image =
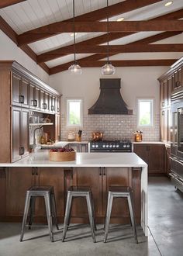
<svg viewBox="0 0 183 256">
<path fill-rule="evenodd" d="M 56 97 L 60 102 L 60 94 L 16 61 L 0 61 L 0 81 L 0 116 L 3 120 L 0 125 L 3 138 L 0 161 L 7 163 L 17 161 L 29 152 L 29 109 L 51 113 L 50 116 L 55 123 L 55 112 L 49 109 L 49 97 L 51 95 L 54 106 Z M 59 122 L 57 118 L 56 123 Z M 50 133 L 52 140 L 55 139 L 56 130 L 57 137 L 60 136 L 60 130 L 53 126 Z"/>
</svg>

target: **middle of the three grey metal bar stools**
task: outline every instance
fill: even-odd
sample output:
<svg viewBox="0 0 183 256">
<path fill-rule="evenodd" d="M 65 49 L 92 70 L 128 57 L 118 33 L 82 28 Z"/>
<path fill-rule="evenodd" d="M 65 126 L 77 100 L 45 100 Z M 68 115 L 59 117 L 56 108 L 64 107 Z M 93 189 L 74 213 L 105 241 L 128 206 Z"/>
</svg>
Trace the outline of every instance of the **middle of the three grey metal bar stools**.
<svg viewBox="0 0 183 256">
<path fill-rule="evenodd" d="M 66 203 L 66 209 L 65 209 L 65 216 L 64 216 L 64 230 L 63 230 L 63 237 L 62 241 L 64 242 L 66 237 L 67 228 L 70 224 L 70 218 L 71 218 L 71 204 L 72 199 L 74 197 L 85 197 L 87 206 L 88 206 L 88 216 L 89 216 L 89 222 L 91 227 L 91 235 L 93 238 L 94 243 L 95 240 L 95 215 L 94 215 L 94 206 L 93 206 L 93 200 L 91 195 L 91 189 L 85 186 L 71 186 L 67 191 L 67 203 Z"/>
</svg>

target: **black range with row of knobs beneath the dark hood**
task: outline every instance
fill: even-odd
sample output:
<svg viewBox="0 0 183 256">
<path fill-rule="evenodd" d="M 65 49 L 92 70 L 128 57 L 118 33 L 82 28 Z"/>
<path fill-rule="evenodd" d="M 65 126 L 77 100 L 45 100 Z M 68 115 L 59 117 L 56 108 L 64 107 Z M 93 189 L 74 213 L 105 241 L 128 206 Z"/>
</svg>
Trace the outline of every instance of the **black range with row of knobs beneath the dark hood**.
<svg viewBox="0 0 183 256">
<path fill-rule="evenodd" d="M 132 143 L 129 140 L 102 140 L 91 141 L 90 152 L 132 152 Z"/>
</svg>

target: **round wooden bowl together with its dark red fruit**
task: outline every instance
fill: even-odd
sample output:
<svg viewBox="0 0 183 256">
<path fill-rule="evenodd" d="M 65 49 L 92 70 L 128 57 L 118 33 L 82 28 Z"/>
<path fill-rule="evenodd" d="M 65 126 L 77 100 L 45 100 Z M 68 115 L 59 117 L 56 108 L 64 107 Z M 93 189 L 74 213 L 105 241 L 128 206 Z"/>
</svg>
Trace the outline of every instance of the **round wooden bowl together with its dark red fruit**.
<svg viewBox="0 0 183 256">
<path fill-rule="evenodd" d="M 50 161 L 74 161 L 75 157 L 75 150 L 68 147 L 52 148 L 49 152 Z"/>
</svg>

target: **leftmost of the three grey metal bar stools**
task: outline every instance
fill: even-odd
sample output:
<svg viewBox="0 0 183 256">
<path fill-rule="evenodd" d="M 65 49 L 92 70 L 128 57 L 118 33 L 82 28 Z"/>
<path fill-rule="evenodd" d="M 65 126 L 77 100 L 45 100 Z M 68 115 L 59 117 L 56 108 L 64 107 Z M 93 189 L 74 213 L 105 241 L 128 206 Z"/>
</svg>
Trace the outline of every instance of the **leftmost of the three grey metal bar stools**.
<svg viewBox="0 0 183 256">
<path fill-rule="evenodd" d="M 53 225 L 52 218 L 54 218 L 55 225 L 58 228 L 57 223 L 57 210 L 54 196 L 54 187 L 53 186 L 32 186 L 26 192 L 26 202 L 24 207 L 23 219 L 22 219 L 22 230 L 20 235 L 20 241 L 22 241 L 25 227 L 43 227 L 43 226 L 33 226 L 33 214 L 35 210 L 35 200 L 36 197 L 43 196 L 46 212 L 47 212 L 47 224 L 50 234 L 50 240 L 54 242 L 54 233 L 53 233 Z M 29 212 L 29 225 L 26 225 L 26 220 Z"/>
</svg>

